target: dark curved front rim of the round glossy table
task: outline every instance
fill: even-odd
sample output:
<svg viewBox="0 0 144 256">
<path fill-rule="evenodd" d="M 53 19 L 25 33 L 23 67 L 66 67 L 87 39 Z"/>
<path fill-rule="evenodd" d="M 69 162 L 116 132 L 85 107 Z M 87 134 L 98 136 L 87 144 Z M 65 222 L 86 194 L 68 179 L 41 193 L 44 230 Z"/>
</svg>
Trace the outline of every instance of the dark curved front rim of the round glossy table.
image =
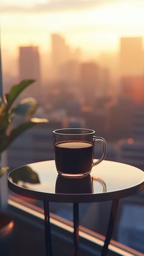
<svg viewBox="0 0 144 256">
<path fill-rule="evenodd" d="M 32 199 L 49 201 L 49 202 L 102 202 L 114 199 L 121 199 L 123 197 L 132 196 L 144 189 L 144 181 L 138 185 L 132 186 L 131 188 L 126 188 L 118 191 L 103 192 L 98 194 L 50 194 L 46 192 L 34 191 L 32 189 L 21 188 L 18 185 L 13 184 L 9 180 L 8 176 L 8 186 L 10 190 L 16 194 L 20 194 L 24 197 L 30 197 Z"/>
</svg>

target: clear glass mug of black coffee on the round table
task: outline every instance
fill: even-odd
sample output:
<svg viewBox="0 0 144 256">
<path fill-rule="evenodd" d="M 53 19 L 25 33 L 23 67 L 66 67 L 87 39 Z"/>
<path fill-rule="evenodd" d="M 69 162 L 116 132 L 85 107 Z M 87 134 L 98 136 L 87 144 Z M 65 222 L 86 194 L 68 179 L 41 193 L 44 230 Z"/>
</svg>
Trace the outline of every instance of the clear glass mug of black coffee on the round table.
<svg viewBox="0 0 144 256">
<path fill-rule="evenodd" d="M 71 177 L 90 174 L 92 167 L 106 157 L 106 141 L 84 128 L 64 128 L 52 132 L 57 172 Z M 103 145 L 103 155 L 93 162 L 95 142 Z"/>
</svg>

